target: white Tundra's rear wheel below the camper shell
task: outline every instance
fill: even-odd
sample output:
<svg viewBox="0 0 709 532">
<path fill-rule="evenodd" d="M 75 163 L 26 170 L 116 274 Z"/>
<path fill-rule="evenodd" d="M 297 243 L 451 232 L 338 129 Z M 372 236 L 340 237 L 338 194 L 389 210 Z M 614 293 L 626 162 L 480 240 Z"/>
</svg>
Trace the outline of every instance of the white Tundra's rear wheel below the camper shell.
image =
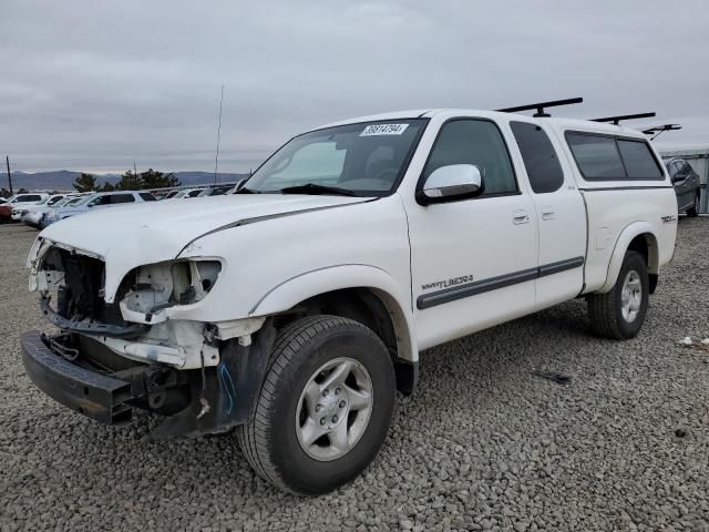
<svg viewBox="0 0 709 532">
<path fill-rule="evenodd" d="M 639 282 L 639 305 L 637 310 L 626 310 L 624 315 L 624 286 L 626 279 Z M 633 286 L 637 286 L 631 283 Z M 636 301 L 630 298 L 630 300 Z M 588 317 L 594 332 L 603 338 L 615 340 L 627 340 L 634 338 L 640 331 L 645 315 L 647 314 L 647 305 L 649 300 L 649 279 L 647 274 L 647 265 L 643 255 L 637 252 L 628 250 L 623 259 L 623 266 L 618 274 L 618 279 L 610 291 L 606 294 L 592 294 L 588 297 Z M 626 307 L 627 308 L 627 307 Z M 633 308 L 633 305 L 631 307 Z"/>
</svg>

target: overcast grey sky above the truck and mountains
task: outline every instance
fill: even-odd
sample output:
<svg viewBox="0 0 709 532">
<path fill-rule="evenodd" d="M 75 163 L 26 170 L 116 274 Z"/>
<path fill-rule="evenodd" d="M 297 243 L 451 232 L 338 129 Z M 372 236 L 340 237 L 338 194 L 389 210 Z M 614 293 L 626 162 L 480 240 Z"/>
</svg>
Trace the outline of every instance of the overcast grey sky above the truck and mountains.
<svg viewBox="0 0 709 532">
<path fill-rule="evenodd" d="M 697 1 L 3 0 L 0 154 L 22 171 L 247 171 L 292 134 L 419 108 L 583 96 L 709 145 Z"/>
</svg>

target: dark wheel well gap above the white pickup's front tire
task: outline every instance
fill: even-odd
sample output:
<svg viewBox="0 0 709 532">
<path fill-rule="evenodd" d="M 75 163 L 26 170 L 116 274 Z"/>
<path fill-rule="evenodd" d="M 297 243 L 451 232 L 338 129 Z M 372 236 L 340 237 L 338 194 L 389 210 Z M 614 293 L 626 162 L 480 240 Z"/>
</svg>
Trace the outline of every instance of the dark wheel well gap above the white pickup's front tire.
<svg viewBox="0 0 709 532">
<path fill-rule="evenodd" d="M 342 288 L 310 297 L 275 320 L 280 329 L 294 319 L 314 315 L 350 318 L 369 327 L 382 340 L 397 374 L 397 388 L 410 393 L 418 379 L 418 362 L 409 340 L 405 319 L 387 295 L 370 288 Z"/>
</svg>

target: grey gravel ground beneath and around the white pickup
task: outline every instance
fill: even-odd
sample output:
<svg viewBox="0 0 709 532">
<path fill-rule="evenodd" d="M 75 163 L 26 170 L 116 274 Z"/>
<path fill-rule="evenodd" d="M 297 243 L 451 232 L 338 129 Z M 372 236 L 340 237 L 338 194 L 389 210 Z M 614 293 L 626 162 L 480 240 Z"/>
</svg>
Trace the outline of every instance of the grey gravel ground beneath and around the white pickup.
<svg viewBox="0 0 709 532">
<path fill-rule="evenodd" d="M 107 428 L 37 390 L 19 350 L 45 328 L 34 235 L 0 226 L 3 531 L 709 530 L 709 352 L 678 345 L 709 337 L 709 218 L 680 218 L 631 341 L 590 337 L 571 301 L 423 354 L 377 460 L 317 499 L 260 480 L 233 436 L 144 443 L 144 417 Z"/>
</svg>

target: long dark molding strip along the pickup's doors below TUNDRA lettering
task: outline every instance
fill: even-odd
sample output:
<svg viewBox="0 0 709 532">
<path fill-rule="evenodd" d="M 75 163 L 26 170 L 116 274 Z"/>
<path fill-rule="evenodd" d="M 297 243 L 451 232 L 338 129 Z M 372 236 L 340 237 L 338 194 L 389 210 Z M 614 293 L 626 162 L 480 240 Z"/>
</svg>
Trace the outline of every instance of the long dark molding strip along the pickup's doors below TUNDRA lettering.
<svg viewBox="0 0 709 532">
<path fill-rule="evenodd" d="M 520 283 L 526 283 L 527 280 L 534 280 L 540 277 L 561 274 L 562 272 L 583 266 L 584 262 L 584 257 L 574 257 L 559 260 L 557 263 L 545 264 L 536 268 L 522 269 L 512 274 L 491 277 L 490 279 L 475 280 L 473 283 L 444 288 L 431 294 L 423 294 L 417 298 L 417 308 L 419 310 L 424 310 L 427 308 L 455 301 L 465 297 L 477 296 L 486 291 L 506 288 L 508 286 L 518 285 Z"/>
</svg>

